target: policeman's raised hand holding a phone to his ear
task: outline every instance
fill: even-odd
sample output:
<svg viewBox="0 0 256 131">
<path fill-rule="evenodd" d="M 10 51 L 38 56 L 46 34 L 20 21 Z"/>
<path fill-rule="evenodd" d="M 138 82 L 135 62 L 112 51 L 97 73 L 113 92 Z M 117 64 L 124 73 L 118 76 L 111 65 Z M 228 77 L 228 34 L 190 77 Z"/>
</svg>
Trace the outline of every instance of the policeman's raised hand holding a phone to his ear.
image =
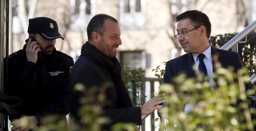
<svg viewBox="0 0 256 131">
<path fill-rule="evenodd" d="M 29 38 L 27 47 L 26 47 L 26 56 L 27 60 L 30 62 L 36 63 L 37 54 L 41 52 L 40 46 L 37 44 L 37 41 L 31 42 L 31 38 Z"/>
</svg>

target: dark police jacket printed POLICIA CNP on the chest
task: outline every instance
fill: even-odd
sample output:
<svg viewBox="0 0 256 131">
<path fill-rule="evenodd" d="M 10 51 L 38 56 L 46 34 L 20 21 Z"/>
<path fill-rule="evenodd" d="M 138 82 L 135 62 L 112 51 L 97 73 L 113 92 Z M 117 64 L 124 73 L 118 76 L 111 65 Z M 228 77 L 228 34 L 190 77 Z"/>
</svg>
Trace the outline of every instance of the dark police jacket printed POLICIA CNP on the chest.
<svg viewBox="0 0 256 131">
<path fill-rule="evenodd" d="M 37 116 L 38 119 L 51 114 L 66 116 L 69 113 L 69 77 L 73 58 L 56 51 L 38 59 L 36 64 L 26 58 L 26 44 L 22 50 L 9 55 L 7 92 L 23 101 L 18 113 Z"/>
</svg>

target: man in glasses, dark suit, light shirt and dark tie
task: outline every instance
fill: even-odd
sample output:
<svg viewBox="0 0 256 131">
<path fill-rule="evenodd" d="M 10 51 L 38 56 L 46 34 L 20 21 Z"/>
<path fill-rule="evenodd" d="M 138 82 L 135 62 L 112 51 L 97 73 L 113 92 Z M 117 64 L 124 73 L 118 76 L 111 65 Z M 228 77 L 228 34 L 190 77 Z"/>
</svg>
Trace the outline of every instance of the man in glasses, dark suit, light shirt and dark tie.
<svg viewBox="0 0 256 131">
<path fill-rule="evenodd" d="M 209 44 L 211 22 L 205 13 L 198 10 L 186 11 L 176 17 L 176 22 L 178 22 L 178 33 L 174 37 L 187 53 L 166 62 L 164 83 L 174 83 L 174 77 L 185 73 L 188 78 L 196 77 L 201 80 L 209 78 L 208 81 L 213 90 L 213 87 L 216 87 L 211 77 L 215 65 L 214 55 L 218 56 L 218 62 L 223 68 L 234 67 L 234 72 L 237 72 L 243 67 L 237 52 L 216 49 Z M 251 83 L 247 84 L 246 88 L 251 88 Z M 188 107 L 190 109 L 185 108 L 185 112 L 191 111 L 191 106 Z"/>
</svg>

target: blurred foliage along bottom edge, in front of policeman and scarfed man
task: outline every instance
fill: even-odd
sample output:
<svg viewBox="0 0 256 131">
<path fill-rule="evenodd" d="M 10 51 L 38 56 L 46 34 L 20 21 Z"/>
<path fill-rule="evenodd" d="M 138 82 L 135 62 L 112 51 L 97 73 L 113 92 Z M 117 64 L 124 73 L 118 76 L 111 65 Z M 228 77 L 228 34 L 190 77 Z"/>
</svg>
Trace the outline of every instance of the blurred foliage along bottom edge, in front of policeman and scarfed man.
<svg viewBox="0 0 256 131">
<path fill-rule="evenodd" d="M 110 83 L 105 83 L 102 87 L 92 87 L 86 89 L 83 84 L 76 84 L 74 89 L 81 91 L 86 95 L 80 99 L 82 104 L 78 114 L 81 116 L 80 123 L 77 123 L 73 119 L 69 119 L 69 125 L 65 120 L 56 121 L 58 116 L 47 116 L 43 118 L 44 125 L 36 126 L 36 131 L 104 131 L 103 126 L 108 124 L 110 119 L 102 115 L 102 109 L 108 101 L 105 97 L 105 91 L 109 87 Z M 96 95 L 97 94 L 97 95 Z M 137 131 L 134 124 L 116 123 L 111 131 L 120 131 L 125 129 L 126 131 Z"/>
</svg>

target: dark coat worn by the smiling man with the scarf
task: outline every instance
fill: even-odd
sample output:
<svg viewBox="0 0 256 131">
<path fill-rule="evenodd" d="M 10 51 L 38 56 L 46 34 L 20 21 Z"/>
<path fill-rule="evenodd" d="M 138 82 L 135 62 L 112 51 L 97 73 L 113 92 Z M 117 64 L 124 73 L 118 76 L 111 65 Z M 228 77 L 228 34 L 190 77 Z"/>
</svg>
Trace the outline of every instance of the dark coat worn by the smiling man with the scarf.
<svg viewBox="0 0 256 131">
<path fill-rule="evenodd" d="M 88 48 L 91 48 L 93 52 L 90 54 L 90 57 L 83 54 L 83 52 L 88 52 L 87 50 L 85 51 L 85 49 Z M 96 57 L 98 55 L 100 55 L 100 57 Z M 81 49 L 80 57 L 75 62 L 71 71 L 71 89 L 75 84 L 78 83 L 83 84 L 86 89 L 90 89 L 92 87 L 99 89 L 102 87 L 102 85 L 107 84 L 108 88 L 106 89 L 106 103 L 103 107 L 104 116 L 108 116 L 111 119 L 111 123 L 107 126 L 107 128 L 118 122 L 136 123 L 137 125 L 141 125 L 142 121 L 140 107 L 133 107 L 132 104 L 130 107 L 123 106 L 124 101 L 120 101 L 118 96 L 120 93 L 128 94 L 128 92 L 125 86 L 115 86 L 111 69 L 103 64 L 105 62 L 103 59 L 109 58 L 100 52 L 95 46 L 86 42 Z M 122 79 L 121 82 L 123 82 Z M 120 88 L 125 89 L 121 89 L 123 92 L 118 92 L 117 90 L 120 90 Z M 81 103 L 78 102 L 78 100 L 81 97 L 86 97 L 84 96 L 83 92 L 74 91 L 74 89 L 71 91 L 71 116 L 73 116 L 78 122 L 80 117 L 77 115 L 77 113 L 79 107 L 81 106 Z M 125 96 L 125 99 L 131 103 L 129 96 Z M 109 104 L 107 104 L 107 102 Z"/>
</svg>

